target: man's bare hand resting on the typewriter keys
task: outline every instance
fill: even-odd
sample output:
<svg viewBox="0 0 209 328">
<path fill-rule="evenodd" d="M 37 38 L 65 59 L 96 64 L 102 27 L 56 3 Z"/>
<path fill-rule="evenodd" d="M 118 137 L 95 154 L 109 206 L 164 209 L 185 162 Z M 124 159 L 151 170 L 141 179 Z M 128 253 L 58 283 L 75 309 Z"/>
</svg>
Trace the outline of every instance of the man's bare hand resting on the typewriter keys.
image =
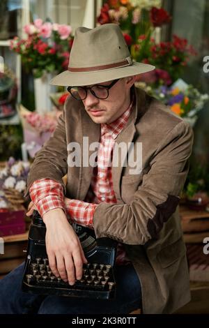
<svg viewBox="0 0 209 328">
<path fill-rule="evenodd" d="M 62 209 L 51 209 L 43 216 L 47 227 L 46 248 L 49 267 L 70 285 L 82 278 L 83 263 L 87 260 L 77 234 L 68 223 Z"/>
</svg>

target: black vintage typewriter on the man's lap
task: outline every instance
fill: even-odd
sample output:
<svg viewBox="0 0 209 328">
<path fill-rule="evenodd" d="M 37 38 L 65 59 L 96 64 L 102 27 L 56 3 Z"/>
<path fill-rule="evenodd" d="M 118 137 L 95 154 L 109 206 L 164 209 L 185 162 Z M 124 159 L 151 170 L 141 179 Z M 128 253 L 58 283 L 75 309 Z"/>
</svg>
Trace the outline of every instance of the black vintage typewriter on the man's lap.
<svg viewBox="0 0 209 328">
<path fill-rule="evenodd" d="M 45 247 L 46 227 L 38 211 L 33 211 L 22 289 L 40 295 L 112 299 L 116 292 L 114 262 L 117 243 L 109 238 L 95 238 L 93 230 L 73 224 L 88 260 L 83 276 L 74 285 L 56 278 L 49 267 Z"/>
</svg>

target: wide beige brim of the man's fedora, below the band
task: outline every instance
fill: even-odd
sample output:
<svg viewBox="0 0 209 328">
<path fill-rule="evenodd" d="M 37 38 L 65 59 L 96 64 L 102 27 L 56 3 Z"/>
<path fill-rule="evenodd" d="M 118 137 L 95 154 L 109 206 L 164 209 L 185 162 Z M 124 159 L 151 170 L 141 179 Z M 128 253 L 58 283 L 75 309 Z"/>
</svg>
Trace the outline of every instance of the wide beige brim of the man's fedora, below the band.
<svg viewBox="0 0 209 328">
<path fill-rule="evenodd" d="M 122 77 L 138 75 L 154 70 L 155 66 L 150 64 L 143 64 L 133 62 L 132 66 L 125 66 L 121 68 L 112 68 L 109 70 L 98 70 L 91 72 L 65 72 L 56 75 L 51 81 L 52 85 L 79 87 L 83 85 L 98 84 L 116 80 Z"/>
</svg>

